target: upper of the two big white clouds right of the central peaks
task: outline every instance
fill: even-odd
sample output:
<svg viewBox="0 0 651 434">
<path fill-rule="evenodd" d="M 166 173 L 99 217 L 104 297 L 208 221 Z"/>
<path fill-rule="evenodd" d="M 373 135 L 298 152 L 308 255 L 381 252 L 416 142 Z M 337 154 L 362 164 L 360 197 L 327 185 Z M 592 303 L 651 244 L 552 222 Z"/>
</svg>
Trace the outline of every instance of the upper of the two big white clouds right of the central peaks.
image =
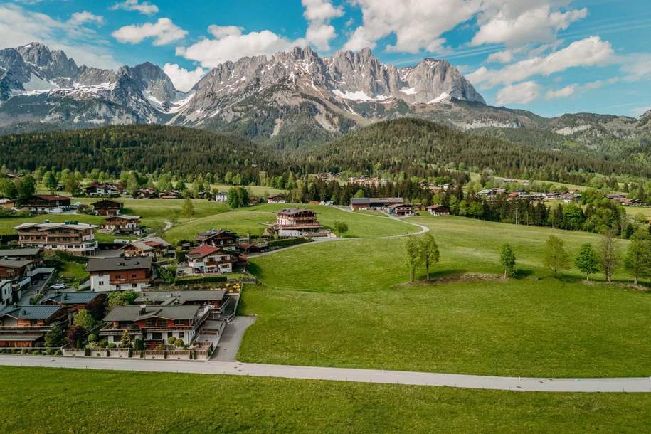
<svg viewBox="0 0 651 434">
<path fill-rule="evenodd" d="M 588 9 L 561 12 L 555 11 L 549 4 L 540 5 L 540 1 L 534 2 L 539 6 L 528 5 L 531 2 L 522 0 L 498 0 L 494 3 L 494 7 L 480 14 L 480 29 L 472 38 L 471 45 L 504 43 L 507 46 L 522 46 L 526 43 L 551 42 L 556 39 L 556 33 L 588 15 Z M 530 6 L 534 7 L 528 9 Z"/>
</svg>

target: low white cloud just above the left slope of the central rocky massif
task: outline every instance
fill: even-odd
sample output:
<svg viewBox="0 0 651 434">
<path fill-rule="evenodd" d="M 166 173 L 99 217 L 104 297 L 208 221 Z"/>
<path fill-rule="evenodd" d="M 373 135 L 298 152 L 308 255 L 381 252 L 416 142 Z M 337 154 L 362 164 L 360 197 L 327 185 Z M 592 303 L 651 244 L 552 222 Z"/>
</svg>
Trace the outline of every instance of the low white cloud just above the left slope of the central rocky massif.
<svg viewBox="0 0 651 434">
<path fill-rule="evenodd" d="M 214 68 L 245 56 L 287 51 L 295 44 L 268 30 L 243 33 L 235 26 L 210 26 L 208 31 L 214 39 L 203 39 L 189 47 L 176 47 L 176 55 L 195 60 L 203 68 Z"/>
</svg>

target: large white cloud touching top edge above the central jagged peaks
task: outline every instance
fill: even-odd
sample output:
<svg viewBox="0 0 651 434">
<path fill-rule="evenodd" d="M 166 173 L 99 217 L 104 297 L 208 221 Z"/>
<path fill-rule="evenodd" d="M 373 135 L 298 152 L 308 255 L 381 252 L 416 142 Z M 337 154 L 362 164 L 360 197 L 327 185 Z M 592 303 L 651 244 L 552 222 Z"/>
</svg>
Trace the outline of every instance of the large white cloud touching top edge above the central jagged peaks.
<svg viewBox="0 0 651 434">
<path fill-rule="evenodd" d="M 391 34 L 396 43 L 388 51 L 418 53 L 442 51 L 441 35 L 472 18 L 480 0 L 351 0 L 361 8 L 363 23 L 351 34 L 344 48 L 375 48 L 377 41 Z"/>
</svg>

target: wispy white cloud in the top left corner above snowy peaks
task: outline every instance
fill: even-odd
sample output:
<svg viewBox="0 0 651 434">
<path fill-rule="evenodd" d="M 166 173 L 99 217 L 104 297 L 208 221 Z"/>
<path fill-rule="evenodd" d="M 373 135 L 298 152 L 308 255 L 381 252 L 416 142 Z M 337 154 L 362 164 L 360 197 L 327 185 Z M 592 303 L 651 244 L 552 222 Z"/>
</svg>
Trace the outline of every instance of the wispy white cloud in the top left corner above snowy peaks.
<svg viewBox="0 0 651 434">
<path fill-rule="evenodd" d="M 87 42 L 91 37 L 92 44 Z M 0 4 L 0 48 L 22 46 L 34 41 L 65 51 L 80 65 L 110 69 L 120 65 L 103 46 L 104 41 L 91 29 L 58 21 L 21 6 Z"/>
</svg>

